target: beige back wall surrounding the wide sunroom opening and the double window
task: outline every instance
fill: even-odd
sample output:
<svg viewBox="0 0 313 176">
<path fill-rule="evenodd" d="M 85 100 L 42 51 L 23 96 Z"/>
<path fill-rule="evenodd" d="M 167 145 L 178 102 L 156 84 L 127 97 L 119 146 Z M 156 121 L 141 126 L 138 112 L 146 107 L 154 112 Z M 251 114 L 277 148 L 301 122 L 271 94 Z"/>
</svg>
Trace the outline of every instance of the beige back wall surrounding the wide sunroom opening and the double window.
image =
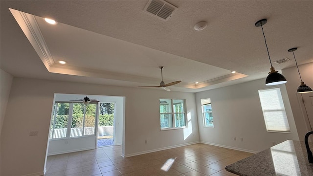
<svg viewBox="0 0 313 176">
<path fill-rule="evenodd" d="M 194 93 L 14 78 L 1 136 L 1 176 L 43 173 L 54 93 L 125 96 L 125 156 L 199 142 Z M 160 131 L 160 97 L 186 99 L 188 130 Z"/>
</svg>

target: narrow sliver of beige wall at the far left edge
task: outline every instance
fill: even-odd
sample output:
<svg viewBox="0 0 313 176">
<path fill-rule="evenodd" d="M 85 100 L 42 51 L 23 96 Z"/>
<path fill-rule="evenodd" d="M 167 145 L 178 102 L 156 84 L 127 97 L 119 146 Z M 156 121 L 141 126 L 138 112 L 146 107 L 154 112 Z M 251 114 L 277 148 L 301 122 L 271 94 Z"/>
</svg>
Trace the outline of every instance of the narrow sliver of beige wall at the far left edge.
<svg viewBox="0 0 313 176">
<path fill-rule="evenodd" d="M 1 71 L 0 72 L 0 136 L 1 136 L 3 120 L 5 116 L 6 106 L 9 100 L 13 76 L 3 71 L 2 69 L 0 71 Z M 0 146 L 1 146 L 1 140 L 0 140 Z M 1 154 L 0 154 L 0 158 L 1 158 Z"/>
</svg>

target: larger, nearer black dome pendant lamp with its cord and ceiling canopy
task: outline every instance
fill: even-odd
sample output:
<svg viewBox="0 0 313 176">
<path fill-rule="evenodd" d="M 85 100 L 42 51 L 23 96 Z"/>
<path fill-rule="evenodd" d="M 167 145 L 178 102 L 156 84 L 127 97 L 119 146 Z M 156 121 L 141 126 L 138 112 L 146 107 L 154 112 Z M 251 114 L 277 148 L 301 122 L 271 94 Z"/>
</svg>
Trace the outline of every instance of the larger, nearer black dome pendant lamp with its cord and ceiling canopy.
<svg viewBox="0 0 313 176">
<path fill-rule="evenodd" d="M 268 44 L 266 43 L 266 39 L 265 39 L 264 31 L 263 31 L 263 25 L 266 24 L 266 22 L 268 22 L 266 19 L 259 20 L 258 22 L 255 23 L 255 26 L 262 28 L 264 42 L 266 45 L 266 49 L 268 50 Z M 279 74 L 278 71 L 275 71 L 274 67 L 272 66 L 272 62 L 270 61 L 270 57 L 269 57 L 269 52 L 268 52 L 268 59 L 269 59 L 269 63 L 271 67 L 270 67 L 270 72 L 268 73 L 268 77 L 266 78 L 265 85 L 272 86 L 272 85 L 279 85 L 279 84 L 287 83 L 286 78 L 283 75 Z"/>
</svg>

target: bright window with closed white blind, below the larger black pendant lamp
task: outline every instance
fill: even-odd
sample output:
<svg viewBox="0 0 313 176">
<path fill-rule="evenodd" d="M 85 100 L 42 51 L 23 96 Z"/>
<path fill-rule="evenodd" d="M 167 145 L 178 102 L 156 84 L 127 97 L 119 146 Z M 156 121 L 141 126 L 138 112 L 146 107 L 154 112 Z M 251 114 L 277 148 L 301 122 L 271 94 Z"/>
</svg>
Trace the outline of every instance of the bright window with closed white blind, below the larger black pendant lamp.
<svg viewBox="0 0 313 176">
<path fill-rule="evenodd" d="M 268 132 L 290 132 L 280 88 L 259 90 L 261 107 Z"/>
</svg>

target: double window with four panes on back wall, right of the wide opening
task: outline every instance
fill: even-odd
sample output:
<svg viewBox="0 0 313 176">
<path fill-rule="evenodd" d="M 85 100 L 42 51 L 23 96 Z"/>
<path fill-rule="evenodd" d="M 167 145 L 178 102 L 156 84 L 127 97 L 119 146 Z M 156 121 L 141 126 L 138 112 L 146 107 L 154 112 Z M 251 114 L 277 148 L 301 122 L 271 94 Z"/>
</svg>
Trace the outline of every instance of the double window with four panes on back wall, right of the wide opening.
<svg viewBox="0 0 313 176">
<path fill-rule="evenodd" d="M 161 129 L 187 127 L 185 100 L 160 99 Z"/>
</svg>

